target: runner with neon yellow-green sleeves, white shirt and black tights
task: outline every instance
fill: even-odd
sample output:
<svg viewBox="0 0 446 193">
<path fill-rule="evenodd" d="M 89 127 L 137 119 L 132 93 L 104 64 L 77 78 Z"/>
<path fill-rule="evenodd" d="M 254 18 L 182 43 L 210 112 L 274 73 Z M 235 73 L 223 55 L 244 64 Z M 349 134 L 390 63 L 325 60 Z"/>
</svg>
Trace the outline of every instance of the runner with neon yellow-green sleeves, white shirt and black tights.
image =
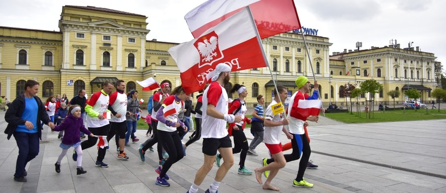
<svg viewBox="0 0 446 193">
<path fill-rule="evenodd" d="M 102 90 L 93 94 L 85 107 L 87 112 L 87 126 L 88 130 L 96 136 L 107 136 L 110 130 L 110 122 L 108 117 L 104 117 L 104 112 L 109 111 L 109 101 L 113 89 L 113 84 L 109 81 L 105 81 L 102 85 Z M 96 145 L 98 138 L 88 137 L 87 141 L 81 143 L 82 150 Z M 104 157 L 107 152 L 107 148 L 98 148 L 98 157 L 96 159 L 97 167 L 109 167 L 108 164 L 104 163 Z M 76 151 L 73 153 L 73 160 L 77 160 Z"/>
</svg>

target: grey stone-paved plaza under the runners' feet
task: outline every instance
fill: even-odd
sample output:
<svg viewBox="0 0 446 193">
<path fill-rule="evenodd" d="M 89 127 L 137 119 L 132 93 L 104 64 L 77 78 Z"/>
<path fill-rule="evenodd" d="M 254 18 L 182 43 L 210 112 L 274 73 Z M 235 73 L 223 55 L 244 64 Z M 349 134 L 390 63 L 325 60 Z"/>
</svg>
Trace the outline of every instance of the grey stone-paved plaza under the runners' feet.
<svg viewBox="0 0 446 193">
<path fill-rule="evenodd" d="M 0 112 L 2 132 L 7 123 Z M 446 192 L 446 119 L 367 124 L 343 124 L 322 117 L 318 124 L 308 127 L 312 154 L 310 159 L 319 169 L 307 169 L 305 180 L 311 189 L 291 186 L 296 177 L 298 161 L 287 163 L 273 184 L 281 193 L 444 193 Z M 141 140 L 147 139 L 146 130 L 138 130 Z M 185 139 L 188 139 L 186 135 Z M 250 142 L 249 128 L 245 134 Z M 28 182 L 13 180 L 18 154 L 14 138 L 1 134 L 0 192 L 1 193 L 186 193 L 195 173 L 203 163 L 202 140 L 187 148 L 187 156 L 175 163 L 167 174 L 170 187 L 155 185 L 158 174 L 157 153 L 147 152 L 146 161 L 138 158 L 139 143 L 126 147 L 129 160 L 116 158 L 112 141 L 104 159 L 110 167 L 95 167 L 97 149 L 85 149 L 82 166 L 86 174 L 76 175 L 72 151 L 61 162 L 56 173 L 54 163 L 61 152 L 57 132 L 45 126 L 40 153 L 27 165 Z M 288 142 L 282 135 L 282 142 Z M 246 167 L 260 167 L 261 157 L 268 157 L 264 144 L 257 147 L 259 156 L 248 155 Z M 290 151 L 289 151 L 290 152 Z M 286 152 L 285 152 L 286 153 Z M 237 174 L 239 155 L 234 155 L 234 166 L 220 185 L 220 193 L 263 193 L 255 176 Z M 209 188 L 217 171 L 208 174 L 199 193 Z M 263 178 L 265 181 L 265 178 Z"/>
</svg>

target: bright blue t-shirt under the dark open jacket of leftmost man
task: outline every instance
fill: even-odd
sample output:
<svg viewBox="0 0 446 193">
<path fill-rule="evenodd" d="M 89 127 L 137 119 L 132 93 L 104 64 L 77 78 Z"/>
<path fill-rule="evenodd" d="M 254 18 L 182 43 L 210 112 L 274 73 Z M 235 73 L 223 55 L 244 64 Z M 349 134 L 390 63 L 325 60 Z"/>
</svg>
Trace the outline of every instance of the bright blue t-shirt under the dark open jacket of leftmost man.
<svg viewBox="0 0 446 193">
<path fill-rule="evenodd" d="M 31 122 L 34 128 L 32 130 L 29 130 L 28 128 L 26 128 L 25 125 L 17 125 L 15 131 L 24 133 L 37 133 L 37 113 L 39 113 L 39 106 L 37 105 L 36 99 L 34 99 L 34 97 L 25 97 L 25 110 L 23 111 L 22 119 Z"/>
</svg>

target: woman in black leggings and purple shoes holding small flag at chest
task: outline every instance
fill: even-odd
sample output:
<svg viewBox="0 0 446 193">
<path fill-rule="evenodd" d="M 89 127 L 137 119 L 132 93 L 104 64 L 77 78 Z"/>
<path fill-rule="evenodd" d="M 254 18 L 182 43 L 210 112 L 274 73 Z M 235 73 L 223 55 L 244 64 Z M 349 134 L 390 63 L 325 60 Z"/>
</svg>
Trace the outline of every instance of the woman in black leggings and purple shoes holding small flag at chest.
<svg viewBox="0 0 446 193">
<path fill-rule="evenodd" d="M 179 111 L 187 96 L 183 91 L 183 87 L 176 87 L 170 96 L 164 100 L 163 105 L 157 112 L 156 118 L 160 123 L 157 127 L 158 143 L 161 143 L 169 154 L 166 162 L 155 169 L 160 175 L 155 182 L 159 186 L 170 186 L 166 181 L 169 179 L 166 172 L 175 162 L 183 158 L 183 146 L 176 128 L 182 127 L 183 131 L 187 131 L 187 127 L 178 119 Z"/>
</svg>

